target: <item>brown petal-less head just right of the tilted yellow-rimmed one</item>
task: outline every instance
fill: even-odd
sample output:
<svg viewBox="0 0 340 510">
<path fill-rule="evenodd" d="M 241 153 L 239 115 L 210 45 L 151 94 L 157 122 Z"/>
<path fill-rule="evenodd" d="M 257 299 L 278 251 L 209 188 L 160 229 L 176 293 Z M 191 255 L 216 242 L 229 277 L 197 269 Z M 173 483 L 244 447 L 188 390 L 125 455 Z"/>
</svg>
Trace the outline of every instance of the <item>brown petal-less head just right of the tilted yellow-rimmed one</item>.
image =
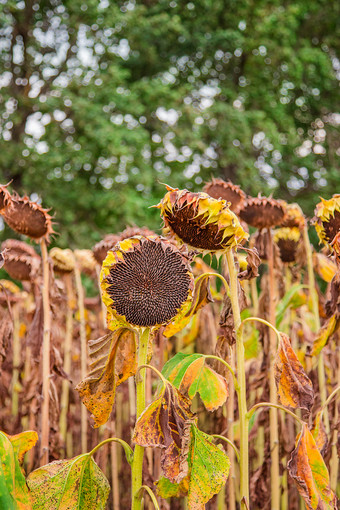
<svg viewBox="0 0 340 510">
<path fill-rule="evenodd" d="M 274 198 L 249 197 L 240 210 L 243 221 L 259 230 L 279 225 L 285 215 L 285 202 Z"/>
</svg>

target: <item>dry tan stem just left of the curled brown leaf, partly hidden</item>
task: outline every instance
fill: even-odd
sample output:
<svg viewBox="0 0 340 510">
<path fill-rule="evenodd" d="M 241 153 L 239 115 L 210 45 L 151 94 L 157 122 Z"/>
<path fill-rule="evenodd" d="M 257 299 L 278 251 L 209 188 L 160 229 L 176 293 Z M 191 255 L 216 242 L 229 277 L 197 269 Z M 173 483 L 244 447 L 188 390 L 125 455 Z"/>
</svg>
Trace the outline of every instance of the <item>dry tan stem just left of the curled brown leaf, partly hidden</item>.
<svg viewBox="0 0 340 510">
<path fill-rule="evenodd" d="M 81 283 L 80 269 L 78 262 L 75 264 L 74 276 L 76 281 L 78 313 L 79 313 L 79 336 L 80 336 L 80 373 L 82 380 L 86 377 L 87 370 L 87 344 L 86 344 L 86 323 L 84 307 L 84 289 Z M 81 452 L 87 451 L 87 410 L 81 406 Z"/>
</svg>

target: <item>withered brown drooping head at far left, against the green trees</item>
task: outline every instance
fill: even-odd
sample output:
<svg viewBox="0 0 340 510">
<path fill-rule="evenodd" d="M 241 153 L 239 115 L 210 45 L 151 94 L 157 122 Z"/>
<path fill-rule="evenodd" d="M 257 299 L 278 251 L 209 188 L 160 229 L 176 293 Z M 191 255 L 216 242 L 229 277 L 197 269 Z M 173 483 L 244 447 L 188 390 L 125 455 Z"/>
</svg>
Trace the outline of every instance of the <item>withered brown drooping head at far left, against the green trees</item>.
<svg viewBox="0 0 340 510">
<path fill-rule="evenodd" d="M 35 241 L 45 239 L 49 242 L 50 235 L 54 233 L 52 217 L 47 209 L 43 209 L 28 197 L 13 194 L 8 206 L 2 215 L 6 223 L 18 234 L 23 234 Z"/>
</svg>

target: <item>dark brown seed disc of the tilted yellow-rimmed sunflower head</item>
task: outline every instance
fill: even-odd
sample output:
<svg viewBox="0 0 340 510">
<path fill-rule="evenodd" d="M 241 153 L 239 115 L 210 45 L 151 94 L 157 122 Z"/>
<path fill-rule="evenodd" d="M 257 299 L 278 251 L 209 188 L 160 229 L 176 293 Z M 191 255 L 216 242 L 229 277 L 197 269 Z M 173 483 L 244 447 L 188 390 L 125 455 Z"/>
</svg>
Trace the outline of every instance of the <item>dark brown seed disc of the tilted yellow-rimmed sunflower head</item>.
<svg viewBox="0 0 340 510">
<path fill-rule="evenodd" d="M 168 225 L 185 243 L 200 250 L 224 250 L 230 237 L 223 239 L 223 229 L 218 225 L 208 223 L 205 225 L 207 216 L 197 214 L 197 206 L 193 203 L 179 209 L 174 208 L 173 212 L 166 212 Z"/>
</svg>

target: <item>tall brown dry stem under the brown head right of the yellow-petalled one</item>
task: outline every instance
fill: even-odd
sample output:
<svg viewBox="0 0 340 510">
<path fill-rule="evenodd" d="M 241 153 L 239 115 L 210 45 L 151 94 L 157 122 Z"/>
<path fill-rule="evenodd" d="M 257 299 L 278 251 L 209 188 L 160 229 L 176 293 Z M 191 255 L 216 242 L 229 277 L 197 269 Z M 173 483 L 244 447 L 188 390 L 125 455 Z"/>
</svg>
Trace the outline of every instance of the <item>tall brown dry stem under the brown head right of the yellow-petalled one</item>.
<svg viewBox="0 0 340 510">
<path fill-rule="evenodd" d="M 269 322 L 276 324 L 276 288 L 274 275 L 274 253 L 273 240 L 270 228 L 267 229 L 268 244 L 268 281 L 269 281 Z M 269 398 L 272 404 L 277 404 L 277 391 L 274 373 L 274 358 L 277 350 L 276 334 L 269 329 Z M 269 410 L 269 428 L 270 428 L 270 486 L 271 486 L 271 509 L 280 509 L 280 468 L 279 468 L 279 421 L 276 407 Z"/>
</svg>

